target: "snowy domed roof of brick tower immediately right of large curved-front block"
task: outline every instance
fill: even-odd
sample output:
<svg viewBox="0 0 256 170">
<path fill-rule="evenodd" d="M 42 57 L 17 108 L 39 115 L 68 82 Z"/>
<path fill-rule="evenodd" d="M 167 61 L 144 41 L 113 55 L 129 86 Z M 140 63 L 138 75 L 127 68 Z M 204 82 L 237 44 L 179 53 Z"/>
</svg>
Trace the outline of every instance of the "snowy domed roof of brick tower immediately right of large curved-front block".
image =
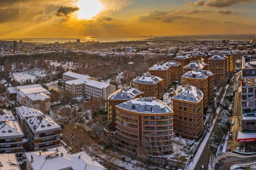
<svg viewBox="0 0 256 170">
<path fill-rule="evenodd" d="M 173 99 L 186 100 L 197 103 L 203 99 L 203 92 L 194 86 L 187 85 L 177 91 L 177 95 Z"/>
</svg>

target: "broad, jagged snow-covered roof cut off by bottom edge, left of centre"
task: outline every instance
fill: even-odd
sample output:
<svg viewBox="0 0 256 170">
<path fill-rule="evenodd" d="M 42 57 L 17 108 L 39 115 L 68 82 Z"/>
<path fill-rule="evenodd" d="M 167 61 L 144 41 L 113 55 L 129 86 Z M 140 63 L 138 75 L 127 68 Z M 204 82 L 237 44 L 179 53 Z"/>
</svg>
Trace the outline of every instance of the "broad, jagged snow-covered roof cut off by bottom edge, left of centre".
<svg viewBox="0 0 256 170">
<path fill-rule="evenodd" d="M 41 155 L 39 154 L 41 152 Z M 76 154 L 69 154 L 63 147 L 47 149 L 47 151 L 26 152 L 26 156 L 31 162 L 31 156 L 34 161 L 31 164 L 34 170 L 58 170 L 58 169 L 74 169 L 74 170 L 103 170 L 106 169 L 98 163 L 85 151 Z"/>
</svg>

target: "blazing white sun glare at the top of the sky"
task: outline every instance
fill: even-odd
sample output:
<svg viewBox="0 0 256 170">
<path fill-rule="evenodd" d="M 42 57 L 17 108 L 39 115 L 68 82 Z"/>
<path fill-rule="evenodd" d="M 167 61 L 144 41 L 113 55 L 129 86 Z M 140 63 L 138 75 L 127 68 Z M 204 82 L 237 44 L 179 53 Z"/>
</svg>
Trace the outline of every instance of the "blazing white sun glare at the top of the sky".
<svg viewBox="0 0 256 170">
<path fill-rule="evenodd" d="M 78 19 L 92 19 L 102 10 L 102 4 L 99 0 L 79 0 L 76 5 L 79 7 Z"/>
</svg>

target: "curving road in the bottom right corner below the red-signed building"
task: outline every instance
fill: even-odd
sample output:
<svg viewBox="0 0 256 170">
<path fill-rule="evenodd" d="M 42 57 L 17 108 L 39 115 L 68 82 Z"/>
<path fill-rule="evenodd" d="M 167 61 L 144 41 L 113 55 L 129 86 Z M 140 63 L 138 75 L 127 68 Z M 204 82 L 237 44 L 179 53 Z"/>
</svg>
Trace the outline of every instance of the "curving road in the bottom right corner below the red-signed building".
<svg viewBox="0 0 256 170">
<path fill-rule="evenodd" d="M 216 163 L 215 169 L 218 170 L 227 170 L 230 169 L 231 166 L 236 164 L 250 164 L 256 162 L 256 157 L 254 158 L 238 158 L 238 157 L 226 157 Z"/>
</svg>

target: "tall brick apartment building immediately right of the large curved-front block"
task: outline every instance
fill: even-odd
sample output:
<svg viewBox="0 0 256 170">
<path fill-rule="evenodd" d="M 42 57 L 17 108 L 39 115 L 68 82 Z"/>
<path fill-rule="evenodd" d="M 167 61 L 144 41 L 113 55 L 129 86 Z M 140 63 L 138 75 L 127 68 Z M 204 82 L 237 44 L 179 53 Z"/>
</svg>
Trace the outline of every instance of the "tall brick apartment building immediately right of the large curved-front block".
<svg viewBox="0 0 256 170">
<path fill-rule="evenodd" d="M 199 139 L 203 134 L 203 92 L 187 85 L 175 91 L 173 129 L 176 135 Z"/>
</svg>

